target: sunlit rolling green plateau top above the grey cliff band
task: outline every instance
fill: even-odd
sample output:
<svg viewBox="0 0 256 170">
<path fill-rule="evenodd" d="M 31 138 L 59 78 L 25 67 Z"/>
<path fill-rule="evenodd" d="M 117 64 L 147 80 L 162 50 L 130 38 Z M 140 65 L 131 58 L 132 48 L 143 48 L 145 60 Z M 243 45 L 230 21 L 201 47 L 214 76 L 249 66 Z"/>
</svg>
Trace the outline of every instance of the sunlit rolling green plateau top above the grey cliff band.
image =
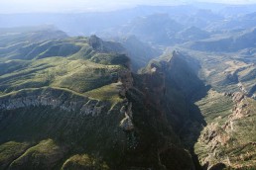
<svg viewBox="0 0 256 170">
<path fill-rule="evenodd" d="M 5 52 L 0 58 L 1 94 L 42 87 L 83 94 L 117 81 L 129 59 L 111 52 L 119 47 L 117 43 L 105 42 L 108 45 L 102 50 L 89 43 L 87 38 L 69 38 L 17 47 L 15 57 Z"/>
</svg>

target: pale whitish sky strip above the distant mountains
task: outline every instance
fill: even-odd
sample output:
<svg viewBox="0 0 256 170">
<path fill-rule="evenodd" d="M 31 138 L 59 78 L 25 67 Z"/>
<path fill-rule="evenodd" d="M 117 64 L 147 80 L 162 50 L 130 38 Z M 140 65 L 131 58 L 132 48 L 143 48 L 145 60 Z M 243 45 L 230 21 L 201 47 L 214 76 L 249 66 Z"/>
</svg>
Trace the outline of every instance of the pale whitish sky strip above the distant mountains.
<svg viewBox="0 0 256 170">
<path fill-rule="evenodd" d="M 136 5 L 172 5 L 194 1 L 256 3 L 256 0 L 0 0 L 0 13 L 109 11 Z"/>
</svg>

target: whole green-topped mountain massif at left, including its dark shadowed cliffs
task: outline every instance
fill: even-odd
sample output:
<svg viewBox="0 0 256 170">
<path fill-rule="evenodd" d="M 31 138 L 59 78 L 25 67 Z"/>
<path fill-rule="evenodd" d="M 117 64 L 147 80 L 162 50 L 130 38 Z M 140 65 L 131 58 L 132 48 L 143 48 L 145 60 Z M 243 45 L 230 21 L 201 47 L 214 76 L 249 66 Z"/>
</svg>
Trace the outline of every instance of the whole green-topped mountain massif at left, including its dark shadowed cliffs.
<svg viewBox="0 0 256 170">
<path fill-rule="evenodd" d="M 8 72 L 2 71 L 0 76 L 0 129 L 4 129 L 1 130 L 1 168 L 194 168 L 190 151 L 174 130 L 184 124 L 182 120 L 186 117 L 179 118 L 182 114 L 179 110 L 168 111 L 166 106 L 161 109 L 160 101 L 167 98 L 163 75 L 167 72 L 157 70 L 154 76 L 150 72 L 132 73 L 130 59 L 120 53 L 123 51 L 120 43 L 104 42 L 95 36 L 52 41 L 48 48 L 64 41 L 82 46 L 74 54 L 53 50 L 47 57 L 32 60 L 24 57 L 23 61 L 21 57 L 16 62 L 17 59 L 8 55 L 1 58 L 1 64 L 7 67 L 10 60 L 18 64 Z M 83 53 L 82 48 L 91 51 Z M 49 72 L 44 71 L 48 69 Z M 58 74 L 52 75 L 53 70 Z M 70 74 L 71 81 L 61 74 L 64 70 L 66 75 Z M 43 77 L 45 84 L 34 84 L 32 76 L 41 71 L 47 75 Z M 98 77 L 95 81 L 81 78 L 95 75 Z M 65 86 L 56 83 L 63 76 Z M 159 84 L 152 84 L 152 76 L 159 78 Z M 77 80 L 81 79 L 81 83 L 90 81 L 86 85 L 78 84 Z M 108 81 L 98 85 L 100 79 Z M 141 79 L 146 84 L 140 84 Z M 178 118 L 172 124 L 169 112 Z M 17 152 L 10 150 L 19 146 Z"/>
</svg>

